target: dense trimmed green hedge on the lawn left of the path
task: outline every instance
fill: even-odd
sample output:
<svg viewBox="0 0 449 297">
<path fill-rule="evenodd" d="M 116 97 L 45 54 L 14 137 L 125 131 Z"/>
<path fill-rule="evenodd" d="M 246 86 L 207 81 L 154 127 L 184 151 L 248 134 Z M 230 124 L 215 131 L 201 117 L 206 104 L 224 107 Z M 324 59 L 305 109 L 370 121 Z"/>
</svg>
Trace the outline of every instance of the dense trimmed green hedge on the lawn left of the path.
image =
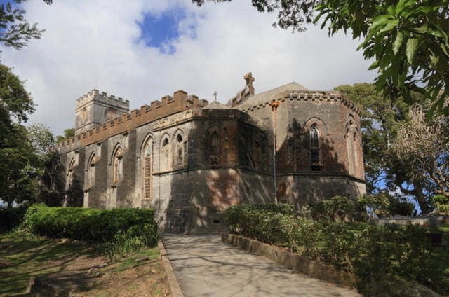
<svg viewBox="0 0 449 297">
<path fill-rule="evenodd" d="M 121 233 L 142 235 L 148 244 L 157 240 L 152 209 L 90 209 L 32 205 L 23 222 L 30 232 L 54 238 L 72 238 L 89 243 L 110 242 Z"/>
</svg>

